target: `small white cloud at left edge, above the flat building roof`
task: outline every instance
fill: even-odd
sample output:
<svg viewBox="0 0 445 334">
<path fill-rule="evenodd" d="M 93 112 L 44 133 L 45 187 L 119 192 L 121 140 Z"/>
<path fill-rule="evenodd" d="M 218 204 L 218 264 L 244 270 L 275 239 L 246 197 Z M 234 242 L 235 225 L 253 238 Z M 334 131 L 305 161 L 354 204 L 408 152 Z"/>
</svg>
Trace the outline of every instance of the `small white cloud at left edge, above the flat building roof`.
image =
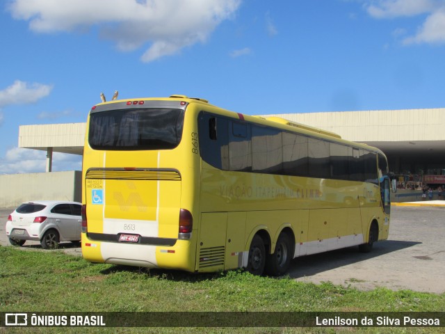
<svg viewBox="0 0 445 334">
<path fill-rule="evenodd" d="M 30 104 L 51 93 L 52 86 L 16 80 L 6 89 L 0 90 L 0 107 L 10 104 Z"/>
</svg>

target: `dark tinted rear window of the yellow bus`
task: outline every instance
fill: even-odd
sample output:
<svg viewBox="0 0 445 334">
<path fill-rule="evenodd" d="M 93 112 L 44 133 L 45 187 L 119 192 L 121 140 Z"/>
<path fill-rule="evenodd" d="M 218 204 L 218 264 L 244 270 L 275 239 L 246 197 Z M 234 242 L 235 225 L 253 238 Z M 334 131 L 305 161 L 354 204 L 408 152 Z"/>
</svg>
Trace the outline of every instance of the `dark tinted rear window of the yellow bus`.
<svg viewBox="0 0 445 334">
<path fill-rule="evenodd" d="M 95 150 L 168 150 L 181 141 L 181 109 L 124 109 L 90 114 L 88 142 Z"/>
</svg>

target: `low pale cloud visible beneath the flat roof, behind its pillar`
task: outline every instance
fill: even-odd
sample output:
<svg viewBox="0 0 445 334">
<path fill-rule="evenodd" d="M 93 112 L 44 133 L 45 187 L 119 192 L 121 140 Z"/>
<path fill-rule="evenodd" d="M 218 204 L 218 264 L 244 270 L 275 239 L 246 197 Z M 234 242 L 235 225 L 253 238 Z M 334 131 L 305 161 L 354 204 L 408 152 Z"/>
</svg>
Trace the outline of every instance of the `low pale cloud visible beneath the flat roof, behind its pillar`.
<svg viewBox="0 0 445 334">
<path fill-rule="evenodd" d="M 12 148 L 0 157 L 0 174 L 44 173 L 47 166 L 47 152 L 26 148 Z M 54 152 L 53 171 L 81 170 L 82 157 L 76 154 Z"/>
</svg>

